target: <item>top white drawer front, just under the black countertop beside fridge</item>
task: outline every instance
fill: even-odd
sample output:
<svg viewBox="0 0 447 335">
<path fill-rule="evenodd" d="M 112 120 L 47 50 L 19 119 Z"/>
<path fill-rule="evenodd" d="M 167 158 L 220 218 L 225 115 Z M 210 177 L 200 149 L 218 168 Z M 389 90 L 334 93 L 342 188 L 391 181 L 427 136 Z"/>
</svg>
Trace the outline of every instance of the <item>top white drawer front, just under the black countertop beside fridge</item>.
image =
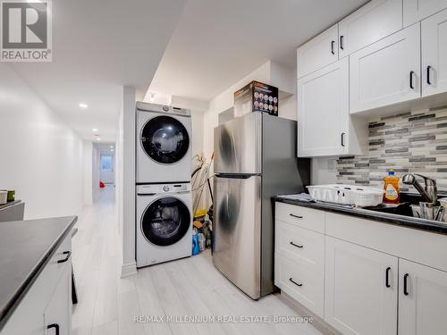
<svg viewBox="0 0 447 335">
<path fill-rule="evenodd" d="M 275 217 L 277 220 L 291 223 L 308 230 L 315 230 L 321 233 L 325 232 L 324 211 L 277 202 Z"/>
</svg>

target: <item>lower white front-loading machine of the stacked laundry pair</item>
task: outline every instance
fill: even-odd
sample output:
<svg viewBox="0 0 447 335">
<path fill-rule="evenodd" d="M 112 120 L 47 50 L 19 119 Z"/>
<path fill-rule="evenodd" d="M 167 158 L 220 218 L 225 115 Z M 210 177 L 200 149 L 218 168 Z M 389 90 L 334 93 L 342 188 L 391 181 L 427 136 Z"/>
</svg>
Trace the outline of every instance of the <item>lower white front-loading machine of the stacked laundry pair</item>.
<svg viewBox="0 0 447 335">
<path fill-rule="evenodd" d="M 137 186 L 137 267 L 191 255 L 190 183 Z"/>
</svg>

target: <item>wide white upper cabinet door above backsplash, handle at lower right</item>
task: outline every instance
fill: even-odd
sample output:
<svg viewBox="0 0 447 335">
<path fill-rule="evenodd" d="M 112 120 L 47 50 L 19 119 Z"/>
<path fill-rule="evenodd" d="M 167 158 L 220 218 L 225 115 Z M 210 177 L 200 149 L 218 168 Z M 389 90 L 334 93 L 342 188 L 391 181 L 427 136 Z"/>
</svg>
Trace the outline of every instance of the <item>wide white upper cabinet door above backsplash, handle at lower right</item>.
<svg viewBox="0 0 447 335">
<path fill-rule="evenodd" d="M 350 113 L 420 97 L 419 23 L 350 55 Z"/>
</svg>

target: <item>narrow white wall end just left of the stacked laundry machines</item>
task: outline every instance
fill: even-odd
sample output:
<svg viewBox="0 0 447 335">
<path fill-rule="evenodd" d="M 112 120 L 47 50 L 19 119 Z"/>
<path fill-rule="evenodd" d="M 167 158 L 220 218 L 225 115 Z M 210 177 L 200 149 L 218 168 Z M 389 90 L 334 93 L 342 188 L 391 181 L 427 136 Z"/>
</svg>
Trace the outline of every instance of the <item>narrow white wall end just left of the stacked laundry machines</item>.
<svg viewBox="0 0 447 335">
<path fill-rule="evenodd" d="M 122 276 L 137 271 L 135 262 L 135 88 L 122 90 L 116 138 L 116 201 L 122 241 Z"/>
</svg>

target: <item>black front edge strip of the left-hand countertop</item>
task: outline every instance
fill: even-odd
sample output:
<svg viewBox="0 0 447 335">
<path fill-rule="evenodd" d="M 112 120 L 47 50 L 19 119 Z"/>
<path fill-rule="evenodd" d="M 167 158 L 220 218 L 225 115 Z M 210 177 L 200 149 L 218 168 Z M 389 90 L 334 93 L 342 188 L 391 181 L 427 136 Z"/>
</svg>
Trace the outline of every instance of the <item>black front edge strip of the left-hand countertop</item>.
<svg viewBox="0 0 447 335">
<path fill-rule="evenodd" d="M 65 239 L 69 232 L 72 231 L 74 224 L 78 222 L 78 216 L 67 216 L 66 218 L 70 220 L 70 223 L 67 224 L 65 229 L 61 232 L 61 234 L 59 234 L 57 239 L 55 239 L 55 242 L 51 245 L 51 247 L 46 250 L 46 253 L 42 256 L 38 264 L 36 264 L 36 266 L 32 269 L 26 281 L 23 281 L 21 286 L 14 292 L 10 302 L 4 306 L 3 313 L 0 313 L 0 331 L 2 331 L 4 324 L 9 320 L 17 306 L 21 303 L 21 299 L 26 296 L 34 281 L 37 280 L 40 272 L 42 272 L 51 257 L 55 254 L 55 250 L 62 244 L 63 239 Z"/>
</svg>

